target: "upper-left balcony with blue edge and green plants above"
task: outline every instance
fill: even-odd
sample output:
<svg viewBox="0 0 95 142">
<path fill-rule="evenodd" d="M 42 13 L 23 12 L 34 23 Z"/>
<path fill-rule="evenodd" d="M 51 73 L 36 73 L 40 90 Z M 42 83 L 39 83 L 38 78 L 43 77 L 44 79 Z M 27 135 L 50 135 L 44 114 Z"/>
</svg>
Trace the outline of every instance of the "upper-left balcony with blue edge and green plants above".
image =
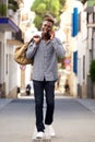
<svg viewBox="0 0 95 142">
<path fill-rule="evenodd" d="M 11 9 L 13 12 L 16 12 L 19 9 L 17 2 L 14 0 L 9 0 L 8 4 L 5 0 L 0 2 L 0 32 L 19 32 L 19 26 L 11 20 L 8 14 L 8 10 Z"/>
</svg>

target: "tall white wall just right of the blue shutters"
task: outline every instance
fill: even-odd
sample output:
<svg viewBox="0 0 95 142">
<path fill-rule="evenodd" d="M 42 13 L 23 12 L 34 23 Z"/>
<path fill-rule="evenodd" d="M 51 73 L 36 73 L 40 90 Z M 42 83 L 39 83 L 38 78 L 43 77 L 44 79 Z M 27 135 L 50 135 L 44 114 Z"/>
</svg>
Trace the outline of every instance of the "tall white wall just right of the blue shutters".
<svg viewBox="0 0 95 142">
<path fill-rule="evenodd" d="M 78 84 L 82 94 L 80 96 L 86 97 L 86 72 L 87 72 L 87 26 L 86 12 L 80 11 L 80 32 L 78 34 Z"/>
</svg>

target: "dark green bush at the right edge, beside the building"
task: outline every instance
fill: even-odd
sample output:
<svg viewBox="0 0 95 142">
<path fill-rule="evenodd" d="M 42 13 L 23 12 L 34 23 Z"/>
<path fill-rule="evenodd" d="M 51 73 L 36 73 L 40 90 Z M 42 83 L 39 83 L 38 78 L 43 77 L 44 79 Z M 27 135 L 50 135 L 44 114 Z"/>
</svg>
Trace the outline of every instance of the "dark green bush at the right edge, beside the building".
<svg viewBox="0 0 95 142">
<path fill-rule="evenodd" d="M 90 74 L 91 74 L 91 80 L 92 80 L 92 82 L 95 83 L 95 60 L 92 60 L 92 61 L 91 61 Z"/>
</svg>

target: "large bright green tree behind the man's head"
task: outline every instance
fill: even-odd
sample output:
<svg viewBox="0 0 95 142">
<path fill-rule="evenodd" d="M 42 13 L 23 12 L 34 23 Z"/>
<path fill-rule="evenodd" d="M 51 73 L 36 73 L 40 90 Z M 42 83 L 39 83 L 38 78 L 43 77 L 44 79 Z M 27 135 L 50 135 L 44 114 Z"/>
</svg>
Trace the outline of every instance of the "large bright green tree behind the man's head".
<svg viewBox="0 0 95 142">
<path fill-rule="evenodd" d="M 58 26 L 60 22 L 60 13 L 64 3 L 66 0 L 34 0 L 31 10 L 37 15 L 34 19 L 35 26 L 40 29 L 40 20 L 44 20 L 47 15 L 52 16 L 55 19 L 56 26 Z"/>
</svg>

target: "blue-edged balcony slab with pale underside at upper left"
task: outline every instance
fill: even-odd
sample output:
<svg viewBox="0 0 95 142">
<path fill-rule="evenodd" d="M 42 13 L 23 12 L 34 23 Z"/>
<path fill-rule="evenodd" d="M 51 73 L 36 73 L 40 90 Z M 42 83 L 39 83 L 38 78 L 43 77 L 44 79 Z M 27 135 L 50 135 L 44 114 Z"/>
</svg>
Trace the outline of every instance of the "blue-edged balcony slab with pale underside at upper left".
<svg viewBox="0 0 95 142">
<path fill-rule="evenodd" d="M 0 17 L 0 32 L 19 32 L 19 26 L 10 17 Z"/>
</svg>

